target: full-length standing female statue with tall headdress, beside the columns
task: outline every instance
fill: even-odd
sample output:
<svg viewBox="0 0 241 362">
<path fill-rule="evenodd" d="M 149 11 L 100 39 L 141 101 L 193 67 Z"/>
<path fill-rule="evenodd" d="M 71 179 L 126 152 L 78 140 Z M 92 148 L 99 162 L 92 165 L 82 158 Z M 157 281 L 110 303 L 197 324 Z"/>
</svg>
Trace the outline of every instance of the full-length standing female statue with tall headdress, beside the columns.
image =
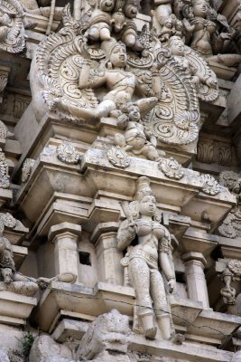
<svg viewBox="0 0 241 362">
<path fill-rule="evenodd" d="M 139 177 L 135 200 L 129 205 L 124 203 L 123 210 L 126 220 L 118 230 L 117 247 L 120 250 L 128 248 L 125 259 L 144 335 L 146 338 L 155 338 L 155 314 L 162 339 L 170 339 L 172 320 L 163 277 L 172 292 L 176 280 L 171 259 L 171 234 L 154 219 L 156 200 L 148 177 Z M 137 244 L 130 246 L 134 240 Z"/>
</svg>

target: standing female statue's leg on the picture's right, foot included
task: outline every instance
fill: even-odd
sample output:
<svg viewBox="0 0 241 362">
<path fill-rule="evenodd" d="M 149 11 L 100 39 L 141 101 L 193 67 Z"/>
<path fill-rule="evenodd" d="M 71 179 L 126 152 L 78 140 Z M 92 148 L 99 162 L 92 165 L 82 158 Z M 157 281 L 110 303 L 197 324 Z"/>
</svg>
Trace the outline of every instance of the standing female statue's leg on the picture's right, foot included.
<svg viewBox="0 0 241 362">
<path fill-rule="evenodd" d="M 151 295 L 156 319 L 163 339 L 171 338 L 171 313 L 167 303 L 166 292 L 160 271 L 151 270 Z"/>
</svg>

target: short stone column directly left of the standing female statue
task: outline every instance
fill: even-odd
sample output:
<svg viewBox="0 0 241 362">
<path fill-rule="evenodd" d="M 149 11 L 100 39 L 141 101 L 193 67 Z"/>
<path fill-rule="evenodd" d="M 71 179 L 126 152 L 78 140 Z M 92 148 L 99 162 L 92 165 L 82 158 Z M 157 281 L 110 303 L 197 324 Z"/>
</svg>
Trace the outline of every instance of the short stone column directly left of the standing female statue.
<svg viewBox="0 0 241 362">
<path fill-rule="evenodd" d="M 123 267 L 120 261 L 123 253 L 116 247 L 117 229 L 117 223 L 98 224 L 91 239 L 96 241 L 99 280 L 122 285 Z"/>
</svg>

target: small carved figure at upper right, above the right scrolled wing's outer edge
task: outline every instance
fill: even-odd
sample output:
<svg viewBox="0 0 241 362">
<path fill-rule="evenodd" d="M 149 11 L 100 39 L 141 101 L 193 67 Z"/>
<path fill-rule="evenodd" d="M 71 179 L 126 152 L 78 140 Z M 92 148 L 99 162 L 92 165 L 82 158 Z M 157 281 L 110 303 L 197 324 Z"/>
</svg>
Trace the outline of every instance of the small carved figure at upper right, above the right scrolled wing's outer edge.
<svg viewBox="0 0 241 362">
<path fill-rule="evenodd" d="M 169 50 L 171 51 L 172 56 L 178 62 L 183 71 L 189 71 L 192 75 L 192 80 L 196 85 L 199 83 L 207 84 L 209 87 L 216 88 L 217 81 L 216 79 L 206 76 L 203 77 L 198 69 L 196 69 L 185 56 L 185 44 L 183 40 L 178 36 L 172 36 L 168 42 Z"/>
</svg>

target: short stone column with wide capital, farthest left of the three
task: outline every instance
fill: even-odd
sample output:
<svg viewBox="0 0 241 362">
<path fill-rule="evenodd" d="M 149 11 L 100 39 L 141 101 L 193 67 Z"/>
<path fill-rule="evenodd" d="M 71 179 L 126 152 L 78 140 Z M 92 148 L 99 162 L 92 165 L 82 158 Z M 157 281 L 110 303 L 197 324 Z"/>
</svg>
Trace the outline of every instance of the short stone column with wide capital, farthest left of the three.
<svg viewBox="0 0 241 362">
<path fill-rule="evenodd" d="M 73 272 L 79 274 L 79 235 L 81 226 L 62 223 L 51 226 L 49 241 L 54 243 L 55 273 Z"/>
</svg>

